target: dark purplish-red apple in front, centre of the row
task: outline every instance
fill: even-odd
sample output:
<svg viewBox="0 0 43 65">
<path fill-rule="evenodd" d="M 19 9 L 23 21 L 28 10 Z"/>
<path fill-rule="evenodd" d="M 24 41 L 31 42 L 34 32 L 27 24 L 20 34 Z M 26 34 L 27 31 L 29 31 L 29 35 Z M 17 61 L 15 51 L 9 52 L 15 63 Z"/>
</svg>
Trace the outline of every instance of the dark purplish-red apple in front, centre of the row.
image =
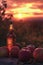
<svg viewBox="0 0 43 65">
<path fill-rule="evenodd" d="M 20 61 L 29 61 L 31 58 L 31 52 L 28 49 L 22 48 L 19 52 L 19 60 Z"/>
</svg>

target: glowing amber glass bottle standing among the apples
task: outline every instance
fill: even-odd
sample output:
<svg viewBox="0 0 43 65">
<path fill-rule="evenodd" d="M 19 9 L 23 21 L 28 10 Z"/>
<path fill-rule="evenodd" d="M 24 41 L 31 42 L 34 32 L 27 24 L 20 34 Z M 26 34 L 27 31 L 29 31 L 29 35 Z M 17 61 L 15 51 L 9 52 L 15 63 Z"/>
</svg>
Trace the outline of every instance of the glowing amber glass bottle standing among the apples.
<svg viewBox="0 0 43 65">
<path fill-rule="evenodd" d="M 9 49 L 9 52 L 11 51 L 12 46 L 14 45 L 13 43 L 15 43 L 15 40 L 16 40 L 16 35 L 14 33 L 13 23 L 11 22 L 7 34 L 7 47 Z"/>
</svg>

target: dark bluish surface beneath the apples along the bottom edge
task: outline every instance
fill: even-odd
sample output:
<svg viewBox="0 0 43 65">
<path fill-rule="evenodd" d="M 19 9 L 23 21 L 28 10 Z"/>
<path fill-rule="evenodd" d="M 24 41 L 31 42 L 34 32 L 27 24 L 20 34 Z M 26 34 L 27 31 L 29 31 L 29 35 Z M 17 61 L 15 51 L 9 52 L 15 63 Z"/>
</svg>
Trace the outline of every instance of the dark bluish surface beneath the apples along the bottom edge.
<svg viewBox="0 0 43 65">
<path fill-rule="evenodd" d="M 0 65 L 43 65 L 43 63 L 23 63 L 15 58 L 0 58 Z"/>
</svg>

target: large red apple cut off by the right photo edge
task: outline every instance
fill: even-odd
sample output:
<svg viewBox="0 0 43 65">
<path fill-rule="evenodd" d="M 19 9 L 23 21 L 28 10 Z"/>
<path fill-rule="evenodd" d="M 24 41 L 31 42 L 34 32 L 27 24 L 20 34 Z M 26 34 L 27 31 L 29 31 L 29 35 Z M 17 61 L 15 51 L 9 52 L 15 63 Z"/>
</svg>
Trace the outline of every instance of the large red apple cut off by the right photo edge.
<svg viewBox="0 0 43 65">
<path fill-rule="evenodd" d="M 43 48 L 36 48 L 33 57 L 36 61 L 43 62 Z"/>
</svg>

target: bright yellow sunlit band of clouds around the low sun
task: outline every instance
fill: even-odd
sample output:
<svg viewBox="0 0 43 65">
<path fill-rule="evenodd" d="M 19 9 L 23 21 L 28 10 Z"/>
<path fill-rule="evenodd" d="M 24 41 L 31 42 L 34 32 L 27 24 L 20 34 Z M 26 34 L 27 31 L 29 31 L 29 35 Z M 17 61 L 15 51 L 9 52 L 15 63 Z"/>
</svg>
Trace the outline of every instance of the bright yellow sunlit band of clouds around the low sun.
<svg viewBox="0 0 43 65">
<path fill-rule="evenodd" d="M 37 3 L 38 4 L 38 3 Z M 43 15 L 43 9 L 35 8 L 36 3 L 22 3 L 22 4 L 13 4 L 15 8 L 9 9 L 8 11 L 13 14 L 14 18 L 23 19 L 27 17 L 37 17 Z M 8 12 L 6 11 L 6 12 Z M 34 13 L 38 13 L 37 15 Z M 41 13 L 41 14 L 40 14 Z"/>
</svg>

